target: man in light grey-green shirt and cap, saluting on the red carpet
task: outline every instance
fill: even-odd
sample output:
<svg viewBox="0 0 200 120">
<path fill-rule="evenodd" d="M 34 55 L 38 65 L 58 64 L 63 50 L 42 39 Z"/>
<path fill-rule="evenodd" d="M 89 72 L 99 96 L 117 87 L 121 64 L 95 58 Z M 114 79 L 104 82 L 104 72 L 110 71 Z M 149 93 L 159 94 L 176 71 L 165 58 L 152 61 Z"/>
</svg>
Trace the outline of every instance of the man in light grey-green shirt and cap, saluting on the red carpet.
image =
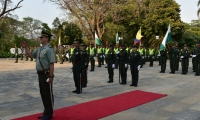
<svg viewBox="0 0 200 120">
<path fill-rule="evenodd" d="M 50 46 L 50 30 L 42 30 L 40 36 L 41 47 L 32 53 L 28 50 L 25 41 L 22 41 L 22 47 L 26 54 L 31 58 L 36 58 L 36 70 L 39 78 L 40 95 L 44 105 L 44 112 L 39 119 L 50 120 L 53 114 L 53 92 L 52 82 L 54 78 L 54 50 Z"/>
</svg>

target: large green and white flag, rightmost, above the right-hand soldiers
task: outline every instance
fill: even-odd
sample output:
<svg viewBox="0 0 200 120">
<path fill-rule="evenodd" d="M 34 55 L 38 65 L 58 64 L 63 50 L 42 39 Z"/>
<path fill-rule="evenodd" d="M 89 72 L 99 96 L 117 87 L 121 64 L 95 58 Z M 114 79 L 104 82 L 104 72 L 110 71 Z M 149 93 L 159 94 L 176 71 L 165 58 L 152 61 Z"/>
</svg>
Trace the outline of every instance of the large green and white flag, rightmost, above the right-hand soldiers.
<svg viewBox="0 0 200 120">
<path fill-rule="evenodd" d="M 164 49 L 166 44 L 168 42 L 171 42 L 171 41 L 172 41 L 172 35 L 171 35 L 171 28 L 170 28 L 170 25 L 169 25 L 167 33 L 165 34 L 165 37 L 164 37 L 162 43 L 160 44 L 160 49 L 159 50 Z"/>
</svg>

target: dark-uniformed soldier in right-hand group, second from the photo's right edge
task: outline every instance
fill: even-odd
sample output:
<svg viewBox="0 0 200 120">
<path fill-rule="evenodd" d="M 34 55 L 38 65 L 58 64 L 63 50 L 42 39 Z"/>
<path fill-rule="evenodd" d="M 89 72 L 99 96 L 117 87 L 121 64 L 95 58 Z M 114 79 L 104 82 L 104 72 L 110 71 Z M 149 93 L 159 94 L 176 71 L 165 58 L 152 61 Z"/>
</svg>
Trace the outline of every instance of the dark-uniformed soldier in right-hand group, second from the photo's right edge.
<svg viewBox="0 0 200 120">
<path fill-rule="evenodd" d="M 180 56 L 180 58 L 182 59 L 182 75 L 186 75 L 188 73 L 189 57 L 190 51 L 188 50 L 187 45 L 184 45 Z"/>
</svg>

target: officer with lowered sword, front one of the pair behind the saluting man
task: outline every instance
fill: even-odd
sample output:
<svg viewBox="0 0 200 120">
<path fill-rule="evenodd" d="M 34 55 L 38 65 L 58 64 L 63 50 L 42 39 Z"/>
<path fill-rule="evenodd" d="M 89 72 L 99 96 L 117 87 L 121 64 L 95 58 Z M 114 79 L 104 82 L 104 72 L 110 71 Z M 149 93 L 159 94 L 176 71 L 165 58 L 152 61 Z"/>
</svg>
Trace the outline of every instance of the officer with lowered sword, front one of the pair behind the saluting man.
<svg viewBox="0 0 200 120">
<path fill-rule="evenodd" d="M 81 49 L 79 48 L 79 41 L 74 41 L 74 53 L 72 55 L 73 62 L 73 76 L 76 90 L 72 91 L 73 93 L 80 94 L 82 92 L 82 80 L 81 80 L 81 72 L 82 68 L 82 57 L 81 57 Z"/>
</svg>

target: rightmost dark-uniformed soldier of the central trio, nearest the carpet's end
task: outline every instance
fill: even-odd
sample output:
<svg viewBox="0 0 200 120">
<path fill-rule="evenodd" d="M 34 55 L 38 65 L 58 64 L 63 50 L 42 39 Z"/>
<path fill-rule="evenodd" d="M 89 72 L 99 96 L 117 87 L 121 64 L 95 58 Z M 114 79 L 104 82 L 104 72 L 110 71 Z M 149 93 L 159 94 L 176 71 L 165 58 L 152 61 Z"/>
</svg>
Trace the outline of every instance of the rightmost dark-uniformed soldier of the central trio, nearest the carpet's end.
<svg viewBox="0 0 200 120">
<path fill-rule="evenodd" d="M 130 86 L 137 87 L 138 85 L 138 77 L 139 77 L 139 69 L 141 66 L 141 56 L 137 51 L 137 46 L 133 45 L 133 51 L 130 53 L 130 68 L 132 75 L 132 84 Z"/>
</svg>

